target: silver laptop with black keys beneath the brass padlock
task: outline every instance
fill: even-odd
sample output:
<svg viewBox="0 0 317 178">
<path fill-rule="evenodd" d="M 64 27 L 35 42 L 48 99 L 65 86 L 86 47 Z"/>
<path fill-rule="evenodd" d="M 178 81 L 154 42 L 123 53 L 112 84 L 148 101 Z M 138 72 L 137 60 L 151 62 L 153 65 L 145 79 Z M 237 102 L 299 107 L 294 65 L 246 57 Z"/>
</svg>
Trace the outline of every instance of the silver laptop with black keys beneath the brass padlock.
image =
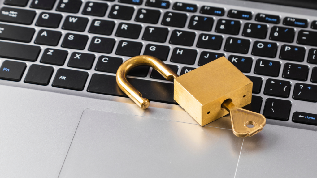
<svg viewBox="0 0 317 178">
<path fill-rule="evenodd" d="M 316 177 L 317 7 L 284 0 L 1 0 L 1 177 Z M 200 126 L 150 67 L 178 75 L 225 56 L 267 124 Z M 203 77 L 203 76 L 202 76 Z M 221 76 L 220 76 L 221 77 Z"/>
</svg>

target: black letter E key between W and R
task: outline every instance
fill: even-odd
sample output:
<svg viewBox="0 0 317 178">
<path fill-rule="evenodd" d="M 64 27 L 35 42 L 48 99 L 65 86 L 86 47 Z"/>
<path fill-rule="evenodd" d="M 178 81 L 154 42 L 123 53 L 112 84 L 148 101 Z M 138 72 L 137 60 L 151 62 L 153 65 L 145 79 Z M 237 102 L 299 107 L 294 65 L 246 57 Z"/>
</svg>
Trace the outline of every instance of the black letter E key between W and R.
<svg viewBox="0 0 317 178">
<path fill-rule="evenodd" d="M 94 19 L 91 22 L 89 33 L 111 35 L 114 28 L 115 22 L 108 20 Z"/>
</svg>

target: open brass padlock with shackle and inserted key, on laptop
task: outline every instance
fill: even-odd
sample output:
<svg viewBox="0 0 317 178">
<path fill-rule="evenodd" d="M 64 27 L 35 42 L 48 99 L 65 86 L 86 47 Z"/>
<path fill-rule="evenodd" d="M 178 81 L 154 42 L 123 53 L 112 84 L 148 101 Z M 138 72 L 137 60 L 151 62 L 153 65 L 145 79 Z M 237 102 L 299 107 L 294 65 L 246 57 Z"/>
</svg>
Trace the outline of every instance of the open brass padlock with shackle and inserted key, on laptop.
<svg viewBox="0 0 317 178">
<path fill-rule="evenodd" d="M 238 137 L 252 136 L 265 126 L 266 119 L 262 114 L 241 109 L 251 103 L 253 83 L 225 57 L 182 76 L 152 56 L 141 55 L 126 60 L 116 74 L 118 86 L 136 104 L 146 109 L 150 101 L 142 98 L 142 94 L 126 79 L 132 68 L 143 65 L 153 67 L 165 79 L 174 82 L 174 100 L 201 126 L 228 112 L 232 131 Z M 250 124 L 254 127 L 249 128 Z"/>
</svg>

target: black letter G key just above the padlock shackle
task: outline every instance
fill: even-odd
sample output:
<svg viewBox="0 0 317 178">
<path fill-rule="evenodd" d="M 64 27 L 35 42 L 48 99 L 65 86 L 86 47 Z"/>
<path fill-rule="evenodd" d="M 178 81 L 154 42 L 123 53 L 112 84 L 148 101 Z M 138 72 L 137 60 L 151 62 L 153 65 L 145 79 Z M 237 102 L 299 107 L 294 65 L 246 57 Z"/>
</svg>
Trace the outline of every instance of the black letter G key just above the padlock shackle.
<svg viewBox="0 0 317 178">
<path fill-rule="evenodd" d="M 143 55 L 154 56 L 162 61 L 167 60 L 168 53 L 170 52 L 169 46 L 147 44 Z"/>
</svg>

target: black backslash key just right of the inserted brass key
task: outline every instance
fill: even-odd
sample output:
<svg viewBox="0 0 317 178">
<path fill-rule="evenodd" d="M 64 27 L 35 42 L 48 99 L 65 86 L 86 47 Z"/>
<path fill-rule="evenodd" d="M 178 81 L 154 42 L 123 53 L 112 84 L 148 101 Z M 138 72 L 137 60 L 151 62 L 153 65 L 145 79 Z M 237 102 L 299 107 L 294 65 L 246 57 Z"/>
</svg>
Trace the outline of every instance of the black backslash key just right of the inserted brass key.
<svg viewBox="0 0 317 178">
<path fill-rule="evenodd" d="M 265 102 L 263 115 L 269 119 L 287 121 L 292 102 L 283 99 L 268 98 Z"/>
</svg>

